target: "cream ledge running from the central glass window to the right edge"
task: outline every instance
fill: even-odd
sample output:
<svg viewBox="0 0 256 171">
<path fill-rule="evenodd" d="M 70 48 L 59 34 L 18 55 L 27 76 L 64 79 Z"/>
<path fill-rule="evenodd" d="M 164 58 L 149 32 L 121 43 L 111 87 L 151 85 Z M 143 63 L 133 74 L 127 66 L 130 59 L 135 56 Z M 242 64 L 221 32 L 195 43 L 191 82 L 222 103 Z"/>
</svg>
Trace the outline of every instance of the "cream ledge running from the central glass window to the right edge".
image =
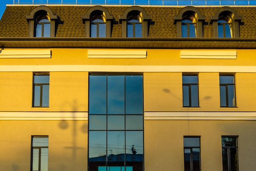
<svg viewBox="0 0 256 171">
<path fill-rule="evenodd" d="M 144 112 L 145 120 L 256 120 L 256 112 Z"/>
</svg>

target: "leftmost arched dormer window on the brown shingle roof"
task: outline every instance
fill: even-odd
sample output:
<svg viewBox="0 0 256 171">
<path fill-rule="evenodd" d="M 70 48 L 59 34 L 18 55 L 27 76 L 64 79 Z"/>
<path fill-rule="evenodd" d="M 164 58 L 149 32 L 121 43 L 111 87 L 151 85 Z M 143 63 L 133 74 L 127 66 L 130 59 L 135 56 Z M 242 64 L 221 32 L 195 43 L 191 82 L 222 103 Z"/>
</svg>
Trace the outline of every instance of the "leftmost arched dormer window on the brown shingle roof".
<svg viewBox="0 0 256 171">
<path fill-rule="evenodd" d="M 27 21 L 30 37 L 55 37 L 55 24 L 58 22 L 58 16 L 49 7 L 34 8 L 30 15 L 27 15 Z"/>
</svg>

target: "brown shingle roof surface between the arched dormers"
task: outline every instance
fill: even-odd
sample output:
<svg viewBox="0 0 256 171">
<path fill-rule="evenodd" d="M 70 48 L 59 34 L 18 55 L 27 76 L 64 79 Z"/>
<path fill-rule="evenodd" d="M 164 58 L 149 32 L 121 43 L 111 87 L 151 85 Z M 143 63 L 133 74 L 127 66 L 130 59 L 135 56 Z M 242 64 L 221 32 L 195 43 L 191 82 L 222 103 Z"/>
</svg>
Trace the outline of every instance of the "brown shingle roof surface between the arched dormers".
<svg viewBox="0 0 256 171">
<path fill-rule="evenodd" d="M 29 37 L 29 23 L 26 15 L 29 15 L 36 6 L 7 6 L 0 21 L 0 37 Z M 85 37 L 85 24 L 82 15 L 90 7 L 86 6 L 48 6 L 53 13 L 58 15 L 61 22 L 58 24 L 55 37 Z M 124 6 L 106 6 L 110 15 L 113 15 L 118 24 L 112 27 L 111 37 L 122 37 L 119 15 L 122 15 Z M 149 38 L 177 37 L 177 26 L 173 24 L 174 15 L 178 15 L 181 7 L 142 7 L 150 15 L 152 23 L 149 26 Z M 220 7 L 197 7 L 205 22 L 210 21 Z M 242 15 L 243 25 L 240 25 L 240 38 L 256 38 L 256 22 L 253 22 L 256 7 L 232 7 L 239 15 Z M 248 13 L 248 11 L 250 11 Z M 203 37 L 213 38 L 212 24 L 204 25 Z"/>
</svg>

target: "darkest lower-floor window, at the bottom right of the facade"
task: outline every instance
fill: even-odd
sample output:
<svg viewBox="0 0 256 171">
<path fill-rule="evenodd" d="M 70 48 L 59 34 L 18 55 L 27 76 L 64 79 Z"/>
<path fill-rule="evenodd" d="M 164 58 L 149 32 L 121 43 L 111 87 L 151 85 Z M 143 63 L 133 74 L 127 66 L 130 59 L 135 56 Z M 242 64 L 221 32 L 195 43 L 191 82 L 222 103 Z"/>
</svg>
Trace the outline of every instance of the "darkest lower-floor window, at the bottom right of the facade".
<svg viewBox="0 0 256 171">
<path fill-rule="evenodd" d="M 222 136 L 223 171 L 238 171 L 237 136 Z"/>
</svg>

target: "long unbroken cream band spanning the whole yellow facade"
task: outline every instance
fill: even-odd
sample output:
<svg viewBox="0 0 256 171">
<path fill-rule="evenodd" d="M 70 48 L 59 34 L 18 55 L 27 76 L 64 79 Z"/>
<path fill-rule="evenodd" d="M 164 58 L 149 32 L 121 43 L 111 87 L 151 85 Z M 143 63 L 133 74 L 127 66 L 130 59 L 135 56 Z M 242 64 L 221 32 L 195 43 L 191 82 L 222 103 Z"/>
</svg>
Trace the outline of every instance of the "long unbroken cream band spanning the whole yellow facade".
<svg viewBox="0 0 256 171">
<path fill-rule="evenodd" d="M 256 66 L 1 65 L 0 72 L 248 72 Z"/>
</svg>

